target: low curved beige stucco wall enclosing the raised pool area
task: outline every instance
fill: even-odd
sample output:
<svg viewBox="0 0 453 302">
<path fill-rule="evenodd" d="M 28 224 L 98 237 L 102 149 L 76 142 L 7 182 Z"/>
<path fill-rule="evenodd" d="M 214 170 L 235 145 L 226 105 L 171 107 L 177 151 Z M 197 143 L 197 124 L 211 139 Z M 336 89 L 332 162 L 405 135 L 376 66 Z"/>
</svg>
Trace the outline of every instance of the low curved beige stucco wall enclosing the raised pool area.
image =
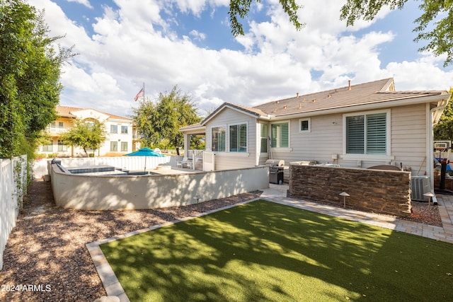
<svg viewBox="0 0 453 302">
<path fill-rule="evenodd" d="M 153 209 L 196 204 L 269 187 L 268 167 L 184 175 L 96 176 L 50 168 L 55 203 L 87 210 Z"/>
</svg>

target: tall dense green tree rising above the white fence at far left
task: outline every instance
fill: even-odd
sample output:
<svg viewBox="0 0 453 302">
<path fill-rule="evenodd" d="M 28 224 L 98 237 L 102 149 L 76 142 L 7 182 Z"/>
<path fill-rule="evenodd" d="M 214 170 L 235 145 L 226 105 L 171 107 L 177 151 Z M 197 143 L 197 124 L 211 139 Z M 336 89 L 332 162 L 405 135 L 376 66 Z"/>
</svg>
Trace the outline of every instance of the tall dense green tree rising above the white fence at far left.
<svg viewBox="0 0 453 302">
<path fill-rule="evenodd" d="M 55 50 L 42 13 L 23 0 L 0 0 L 0 158 L 33 154 L 55 120 L 60 67 L 71 50 Z"/>
</svg>

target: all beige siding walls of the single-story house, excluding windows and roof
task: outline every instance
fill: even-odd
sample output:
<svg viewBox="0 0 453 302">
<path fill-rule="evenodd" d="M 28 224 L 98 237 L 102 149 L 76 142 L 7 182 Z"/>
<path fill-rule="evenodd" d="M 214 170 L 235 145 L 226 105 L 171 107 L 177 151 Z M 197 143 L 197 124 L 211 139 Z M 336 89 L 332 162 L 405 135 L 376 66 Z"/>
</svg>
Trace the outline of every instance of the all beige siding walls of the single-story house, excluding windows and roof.
<svg viewBox="0 0 453 302">
<path fill-rule="evenodd" d="M 345 116 L 362 113 L 387 112 L 389 151 L 383 156 L 367 156 L 345 154 Z M 297 161 L 316 161 L 318 163 L 337 163 L 345 168 L 369 168 L 373 165 L 403 165 L 412 175 L 429 175 L 429 162 L 426 158 L 429 127 L 429 108 L 425 104 L 398 106 L 384 110 L 366 112 L 336 113 L 315 115 L 290 120 L 255 120 L 241 112 L 226 108 L 207 123 L 206 146 L 210 151 L 212 143 L 212 127 L 248 123 L 248 152 L 246 154 L 217 152 L 216 170 L 250 167 L 264 164 L 271 156 L 285 160 L 285 164 Z M 301 120 L 309 120 L 309 131 L 299 131 Z M 289 147 L 272 148 L 268 153 L 260 153 L 260 124 L 268 125 L 270 135 L 273 123 L 289 122 Z M 226 137 L 228 141 L 228 137 Z M 285 179 L 289 178 L 289 170 L 285 170 Z"/>
</svg>

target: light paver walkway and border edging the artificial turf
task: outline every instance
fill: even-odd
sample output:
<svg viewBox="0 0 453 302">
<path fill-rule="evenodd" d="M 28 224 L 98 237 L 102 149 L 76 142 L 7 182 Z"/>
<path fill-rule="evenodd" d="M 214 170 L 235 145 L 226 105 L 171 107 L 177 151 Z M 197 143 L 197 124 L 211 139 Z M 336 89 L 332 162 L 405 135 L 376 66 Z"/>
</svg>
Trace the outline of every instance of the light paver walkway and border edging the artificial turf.
<svg viewBox="0 0 453 302">
<path fill-rule="evenodd" d="M 328 204 L 316 204 L 315 202 L 289 198 L 287 197 L 287 190 L 288 185 L 269 184 L 269 188 L 263 190 L 263 194 L 261 194 L 260 199 L 265 199 L 270 202 L 277 202 L 279 204 L 286 204 L 291 207 L 297 207 L 299 209 L 305 209 L 308 211 L 316 211 L 322 214 L 337 216 L 342 219 L 360 221 L 362 223 L 367 223 L 373 226 L 390 228 L 391 230 L 411 233 L 418 236 L 445 241 L 447 243 L 453 243 L 453 196 L 437 195 L 438 202 L 437 207 L 439 209 L 443 224 L 443 227 L 441 228 L 439 226 L 430 226 L 428 224 L 396 219 L 391 216 L 379 215 L 352 209 L 342 209 L 338 207 L 333 207 Z M 235 207 L 236 205 L 237 204 L 234 204 L 229 207 Z M 222 209 L 215 209 L 213 211 L 219 211 Z M 200 216 L 210 214 L 210 212 L 212 211 L 200 214 Z M 184 221 L 192 218 L 193 217 L 186 217 L 185 219 L 181 219 L 179 221 Z M 171 223 L 175 222 L 178 221 L 173 221 Z M 165 223 L 165 225 L 167 224 L 169 223 Z M 108 243 L 113 240 L 118 240 L 121 238 L 126 238 L 139 233 L 143 233 L 154 228 L 159 228 L 161 226 L 164 225 L 152 226 L 150 228 L 134 231 L 132 233 L 127 233 L 122 236 L 116 236 L 114 238 L 107 238 L 105 240 L 88 243 L 86 245 L 86 248 L 88 248 L 88 251 L 90 252 L 90 255 L 98 271 L 99 277 L 101 277 L 101 281 L 103 282 L 103 286 L 109 298 L 119 299 L 121 302 L 129 301 L 129 298 L 127 298 L 124 289 L 122 289 L 120 282 L 117 280 L 115 273 L 113 272 L 113 269 L 110 267 L 108 261 L 105 259 L 103 252 L 101 251 L 101 248 L 99 248 L 99 245 L 103 243 Z"/>
</svg>

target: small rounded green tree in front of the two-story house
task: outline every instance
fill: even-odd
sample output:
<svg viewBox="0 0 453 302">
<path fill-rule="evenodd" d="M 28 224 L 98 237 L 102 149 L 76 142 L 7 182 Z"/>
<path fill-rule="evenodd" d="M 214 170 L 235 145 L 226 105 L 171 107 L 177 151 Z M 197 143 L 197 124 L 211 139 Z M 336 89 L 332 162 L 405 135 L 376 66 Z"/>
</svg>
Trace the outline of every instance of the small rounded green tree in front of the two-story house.
<svg viewBox="0 0 453 302">
<path fill-rule="evenodd" d="M 60 139 L 65 145 L 84 149 L 86 156 L 88 156 L 88 149 L 98 149 L 107 139 L 105 133 L 105 124 L 101 122 L 76 120 L 75 126 L 62 134 Z"/>
</svg>

